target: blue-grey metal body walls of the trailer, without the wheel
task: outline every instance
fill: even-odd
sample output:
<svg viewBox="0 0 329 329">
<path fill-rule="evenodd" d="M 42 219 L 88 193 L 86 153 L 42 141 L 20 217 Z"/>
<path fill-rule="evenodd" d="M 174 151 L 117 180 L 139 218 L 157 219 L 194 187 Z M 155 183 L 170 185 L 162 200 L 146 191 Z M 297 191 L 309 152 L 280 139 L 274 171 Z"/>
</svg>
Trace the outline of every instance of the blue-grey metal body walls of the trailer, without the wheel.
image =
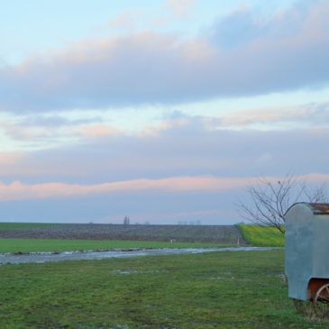
<svg viewBox="0 0 329 329">
<path fill-rule="evenodd" d="M 285 220 L 288 295 L 306 300 L 310 279 L 329 281 L 329 204 L 295 204 Z"/>
</svg>

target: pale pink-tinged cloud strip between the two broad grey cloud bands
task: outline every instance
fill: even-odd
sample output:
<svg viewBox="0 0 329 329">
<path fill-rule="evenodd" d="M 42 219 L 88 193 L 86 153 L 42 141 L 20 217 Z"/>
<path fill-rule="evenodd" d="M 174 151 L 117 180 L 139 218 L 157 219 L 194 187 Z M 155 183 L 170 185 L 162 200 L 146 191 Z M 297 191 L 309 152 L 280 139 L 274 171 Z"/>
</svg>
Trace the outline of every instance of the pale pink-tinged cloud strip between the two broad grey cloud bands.
<svg viewBox="0 0 329 329">
<path fill-rule="evenodd" d="M 80 113 L 81 115 L 83 113 Z M 76 114 L 77 115 L 77 114 Z M 178 111 L 169 112 L 153 123 L 144 123 L 139 129 L 123 129 L 105 116 L 87 116 L 72 119 L 64 115 L 9 115 L 0 120 L 0 133 L 10 142 L 29 148 L 49 148 L 74 143 L 91 142 L 92 139 L 124 139 L 129 136 L 147 142 L 152 137 L 178 134 L 206 133 L 214 130 L 271 130 L 291 131 L 301 128 L 325 129 L 329 124 L 329 104 L 310 103 L 286 107 L 260 107 L 233 111 L 214 116 L 189 116 Z M 43 145 L 43 146 L 42 146 Z"/>
</svg>

